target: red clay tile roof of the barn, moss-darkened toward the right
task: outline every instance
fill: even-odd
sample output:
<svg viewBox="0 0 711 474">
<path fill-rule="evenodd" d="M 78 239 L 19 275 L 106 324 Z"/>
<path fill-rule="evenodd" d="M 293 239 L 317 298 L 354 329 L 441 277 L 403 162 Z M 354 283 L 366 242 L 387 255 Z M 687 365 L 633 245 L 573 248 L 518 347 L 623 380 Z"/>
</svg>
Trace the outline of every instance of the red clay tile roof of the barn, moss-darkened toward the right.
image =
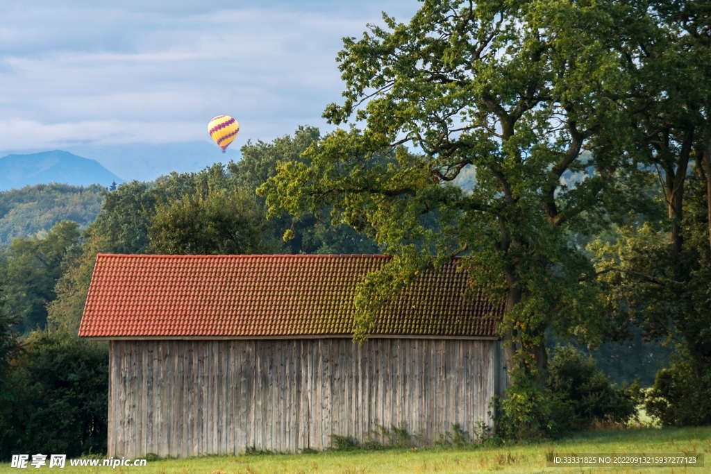
<svg viewBox="0 0 711 474">
<path fill-rule="evenodd" d="M 319 337 L 353 333 L 355 285 L 374 255 L 97 256 L 79 335 Z M 464 298 L 456 264 L 426 271 L 376 321 L 373 335 L 493 337 L 501 316 Z"/>
</svg>

